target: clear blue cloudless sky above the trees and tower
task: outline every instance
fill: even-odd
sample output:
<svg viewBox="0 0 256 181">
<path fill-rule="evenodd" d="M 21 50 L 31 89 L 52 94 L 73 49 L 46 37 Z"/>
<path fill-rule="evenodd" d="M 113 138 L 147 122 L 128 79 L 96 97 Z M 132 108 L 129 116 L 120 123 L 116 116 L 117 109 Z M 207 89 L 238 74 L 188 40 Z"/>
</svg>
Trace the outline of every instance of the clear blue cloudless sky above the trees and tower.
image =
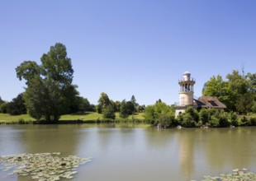
<svg viewBox="0 0 256 181">
<path fill-rule="evenodd" d="M 65 44 L 80 95 L 178 101 L 183 72 L 195 95 L 212 76 L 256 71 L 255 0 L 1 0 L 0 96 L 24 91 L 15 67 Z"/>
</svg>

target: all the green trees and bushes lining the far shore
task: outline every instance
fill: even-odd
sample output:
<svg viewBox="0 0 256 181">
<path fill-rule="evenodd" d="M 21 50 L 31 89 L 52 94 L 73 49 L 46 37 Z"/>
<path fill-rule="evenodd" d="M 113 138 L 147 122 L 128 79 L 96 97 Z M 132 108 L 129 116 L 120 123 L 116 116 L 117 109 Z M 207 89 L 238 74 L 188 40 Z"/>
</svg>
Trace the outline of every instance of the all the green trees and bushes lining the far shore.
<svg viewBox="0 0 256 181">
<path fill-rule="evenodd" d="M 73 67 L 64 44 L 57 43 L 43 53 L 40 64 L 23 61 L 16 67 L 17 78 L 26 81 L 23 93 L 10 102 L 0 97 L 0 111 L 12 115 L 30 114 L 36 120 L 58 121 L 63 114 L 83 114 L 86 111 L 103 114 L 103 118 L 115 119 L 116 112 L 121 118 L 144 112 L 145 122 L 164 127 L 223 127 L 245 123 L 238 114 L 256 113 L 256 74 L 244 75 L 235 70 L 225 77 L 213 76 L 203 87 L 202 95 L 218 98 L 227 106 L 226 112 L 215 109 L 195 110 L 187 108 L 185 114 L 175 118 L 174 106 L 160 99 L 154 105 L 136 103 L 135 95 L 130 100 L 111 100 L 104 92 L 97 105 L 79 95 L 78 86 L 73 85 Z M 235 117 L 236 115 L 236 117 Z"/>
</svg>

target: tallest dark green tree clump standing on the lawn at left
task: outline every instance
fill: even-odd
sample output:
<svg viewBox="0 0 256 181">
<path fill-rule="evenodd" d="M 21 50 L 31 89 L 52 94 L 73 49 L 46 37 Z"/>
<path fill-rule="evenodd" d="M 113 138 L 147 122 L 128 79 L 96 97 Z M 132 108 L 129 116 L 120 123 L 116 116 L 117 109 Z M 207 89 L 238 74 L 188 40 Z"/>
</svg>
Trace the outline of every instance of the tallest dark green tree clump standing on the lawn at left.
<svg viewBox="0 0 256 181">
<path fill-rule="evenodd" d="M 57 43 L 35 61 L 24 61 L 16 68 L 17 77 L 26 80 L 24 100 L 31 117 L 57 121 L 69 112 L 78 91 L 72 84 L 73 67 L 64 44 Z"/>
</svg>

